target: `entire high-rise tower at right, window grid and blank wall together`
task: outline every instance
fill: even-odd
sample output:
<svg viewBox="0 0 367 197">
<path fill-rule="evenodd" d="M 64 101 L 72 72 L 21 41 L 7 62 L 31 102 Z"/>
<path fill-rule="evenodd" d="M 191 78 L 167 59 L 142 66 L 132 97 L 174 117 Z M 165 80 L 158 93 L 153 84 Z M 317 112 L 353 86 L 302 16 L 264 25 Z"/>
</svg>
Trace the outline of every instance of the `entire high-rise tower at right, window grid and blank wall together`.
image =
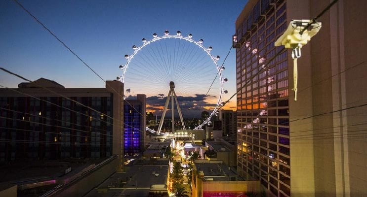
<svg viewBox="0 0 367 197">
<path fill-rule="evenodd" d="M 291 50 L 274 47 L 292 19 L 330 1 L 249 0 L 236 21 L 237 166 L 266 196 L 367 196 L 366 2 L 339 0 L 319 18 L 297 101 Z"/>
</svg>

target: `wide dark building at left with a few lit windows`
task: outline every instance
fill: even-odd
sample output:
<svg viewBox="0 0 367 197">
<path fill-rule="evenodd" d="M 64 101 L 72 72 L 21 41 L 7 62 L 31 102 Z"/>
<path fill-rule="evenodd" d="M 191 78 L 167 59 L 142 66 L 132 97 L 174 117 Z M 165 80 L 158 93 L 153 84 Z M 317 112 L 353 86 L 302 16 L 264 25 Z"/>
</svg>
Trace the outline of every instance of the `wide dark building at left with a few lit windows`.
<svg viewBox="0 0 367 197">
<path fill-rule="evenodd" d="M 122 98 L 109 89 L 123 94 L 123 84 L 106 86 L 65 88 L 40 78 L 0 89 L 0 161 L 121 157 Z"/>
</svg>

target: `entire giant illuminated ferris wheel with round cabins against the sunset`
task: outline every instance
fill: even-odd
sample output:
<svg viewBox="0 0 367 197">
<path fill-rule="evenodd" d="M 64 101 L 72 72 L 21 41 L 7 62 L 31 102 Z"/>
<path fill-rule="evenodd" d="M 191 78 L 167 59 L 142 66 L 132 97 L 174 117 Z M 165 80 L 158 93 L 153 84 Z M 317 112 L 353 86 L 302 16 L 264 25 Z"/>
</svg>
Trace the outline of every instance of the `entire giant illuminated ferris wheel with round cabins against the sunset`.
<svg viewBox="0 0 367 197">
<path fill-rule="evenodd" d="M 222 76 L 225 68 L 218 65 L 220 57 L 212 55 L 213 48 L 205 47 L 203 39 L 195 40 L 191 33 L 184 36 L 180 31 L 176 34 L 165 31 L 162 36 L 153 33 L 151 39 L 142 38 L 141 41 L 140 46 L 132 46 L 132 54 L 125 55 L 126 63 L 120 66 L 122 75 L 117 79 L 124 83 L 124 97 L 147 95 L 147 111 L 162 114 L 157 133 L 161 131 L 168 108 L 172 131 L 177 113 L 185 129 L 183 117 L 195 117 L 203 110 L 209 111 L 202 122 L 189 129 L 210 126 L 211 118 L 218 115 L 218 108 L 224 104 L 222 94 L 228 93 L 223 88 L 223 83 L 228 81 Z M 153 131 L 149 127 L 146 129 Z"/>
</svg>

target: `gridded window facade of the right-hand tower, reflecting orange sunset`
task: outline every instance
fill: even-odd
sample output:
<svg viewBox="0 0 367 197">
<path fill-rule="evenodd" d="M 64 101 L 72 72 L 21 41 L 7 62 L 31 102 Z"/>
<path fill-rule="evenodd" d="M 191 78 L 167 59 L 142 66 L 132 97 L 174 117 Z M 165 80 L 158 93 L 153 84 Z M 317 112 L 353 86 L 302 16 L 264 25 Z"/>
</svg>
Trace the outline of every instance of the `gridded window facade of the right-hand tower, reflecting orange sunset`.
<svg viewBox="0 0 367 197">
<path fill-rule="evenodd" d="M 237 165 L 275 196 L 290 195 L 287 53 L 267 60 L 282 50 L 274 42 L 288 25 L 286 16 L 284 0 L 250 0 L 236 21 L 243 40 L 236 52 Z"/>
</svg>

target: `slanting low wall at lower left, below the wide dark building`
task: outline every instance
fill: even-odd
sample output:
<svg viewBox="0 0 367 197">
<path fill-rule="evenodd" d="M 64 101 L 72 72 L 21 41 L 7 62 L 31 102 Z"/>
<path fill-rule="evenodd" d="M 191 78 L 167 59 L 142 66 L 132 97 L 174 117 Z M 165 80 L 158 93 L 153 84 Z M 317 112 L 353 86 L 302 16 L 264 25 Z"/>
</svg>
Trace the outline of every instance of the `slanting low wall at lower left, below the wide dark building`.
<svg viewBox="0 0 367 197">
<path fill-rule="evenodd" d="M 77 181 L 73 185 L 65 188 L 63 191 L 54 195 L 54 197 L 82 197 L 88 193 L 93 188 L 101 184 L 105 179 L 110 177 L 114 172 L 116 172 L 116 166 L 118 164 L 118 159 L 115 158 L 108 164 L 101 166 L 96 171 L 91 172 L 86 175 L 81 180 Z"/>
</svg>

